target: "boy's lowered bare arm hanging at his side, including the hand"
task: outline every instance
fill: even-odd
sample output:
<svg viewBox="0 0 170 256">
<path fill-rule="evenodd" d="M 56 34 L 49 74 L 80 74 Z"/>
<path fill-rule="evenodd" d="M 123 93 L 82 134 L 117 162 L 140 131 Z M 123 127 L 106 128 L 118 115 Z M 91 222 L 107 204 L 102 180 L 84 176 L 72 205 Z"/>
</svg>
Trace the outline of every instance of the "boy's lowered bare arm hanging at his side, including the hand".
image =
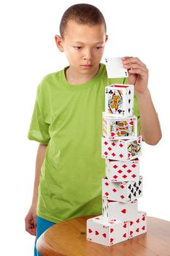
<svg viewBox="0 0 170 256">
<path fill-rule="evenodd" d="M 36 205 L 38 200 L 38 187 L 39 176 L 41 173 L 42 162 L 45 159 L 45 152 L 47 145 L 39 144 L 39 148 L 36 154 L 36 167 L 35 167 L 35 179 L 34 179 L 34 192 L 31 207 L 25 218 L 26 231 L 33 236 L 36 236 Z"/>
</svg>

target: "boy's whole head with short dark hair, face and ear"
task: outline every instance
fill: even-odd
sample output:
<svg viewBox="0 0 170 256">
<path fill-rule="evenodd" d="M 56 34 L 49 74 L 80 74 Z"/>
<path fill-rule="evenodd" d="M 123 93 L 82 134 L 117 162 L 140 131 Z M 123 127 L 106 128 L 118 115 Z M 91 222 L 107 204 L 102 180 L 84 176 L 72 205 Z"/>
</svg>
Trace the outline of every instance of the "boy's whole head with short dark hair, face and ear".
<svg viewBox="0 0 170 256">
<path fill-rule="evenodd" d="M 69 71 L 92 77 L 104 53 L 107 42 L 104 16 L 90 4 L 74 4 L 61 18 L 60 33 L 55 42 L 69 61 Z"/>
</svg>

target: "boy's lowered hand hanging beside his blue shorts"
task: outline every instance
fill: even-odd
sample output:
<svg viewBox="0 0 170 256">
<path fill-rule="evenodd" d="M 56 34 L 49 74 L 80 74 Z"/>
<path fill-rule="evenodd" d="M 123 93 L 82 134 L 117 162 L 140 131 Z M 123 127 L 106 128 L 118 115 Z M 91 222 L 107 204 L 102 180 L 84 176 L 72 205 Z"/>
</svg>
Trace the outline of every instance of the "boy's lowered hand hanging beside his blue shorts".
<svg viewBox="0 0 170 256">
<path fill-rule="evenodd" d="M 31 206 L 25 218 L 26 231 L 36 236 L 36 206 Z"/>
</svg>

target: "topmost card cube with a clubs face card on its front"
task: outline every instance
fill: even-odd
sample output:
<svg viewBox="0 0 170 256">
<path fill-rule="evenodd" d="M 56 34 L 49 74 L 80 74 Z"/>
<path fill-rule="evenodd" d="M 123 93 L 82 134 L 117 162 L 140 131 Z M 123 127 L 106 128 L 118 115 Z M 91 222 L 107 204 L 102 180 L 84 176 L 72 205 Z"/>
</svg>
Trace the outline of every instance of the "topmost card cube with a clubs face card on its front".
<svg viewBox="0 0 170 256">
<path fill-rule="evenodd" d="M 134 114 L 134 86 L 118 83 L 106 86 L 105 112 L 109 116 L 132 116 Z"/>
</svg>

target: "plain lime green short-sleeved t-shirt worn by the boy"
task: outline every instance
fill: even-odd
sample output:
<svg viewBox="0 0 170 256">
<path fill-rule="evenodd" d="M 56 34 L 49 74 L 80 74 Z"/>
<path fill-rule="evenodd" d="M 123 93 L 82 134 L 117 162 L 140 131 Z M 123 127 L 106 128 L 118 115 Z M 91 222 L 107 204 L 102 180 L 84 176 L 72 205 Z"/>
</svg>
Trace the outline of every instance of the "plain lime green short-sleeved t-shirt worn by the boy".
<svg viewBox="0 0 170 256">
<path fill-rule="evenodd" d="M 105 86 L 125 83 L 107 78 L 106 67 L 88 83 L 70 84 L 65 69 L 38 86 L 28 139 L 47 144 L 39 182 L 37 215 L 51 222 L 101 214 L 102 112 Z M 134 97 L 134 115 L 139 108 Z"/>
</svg>

